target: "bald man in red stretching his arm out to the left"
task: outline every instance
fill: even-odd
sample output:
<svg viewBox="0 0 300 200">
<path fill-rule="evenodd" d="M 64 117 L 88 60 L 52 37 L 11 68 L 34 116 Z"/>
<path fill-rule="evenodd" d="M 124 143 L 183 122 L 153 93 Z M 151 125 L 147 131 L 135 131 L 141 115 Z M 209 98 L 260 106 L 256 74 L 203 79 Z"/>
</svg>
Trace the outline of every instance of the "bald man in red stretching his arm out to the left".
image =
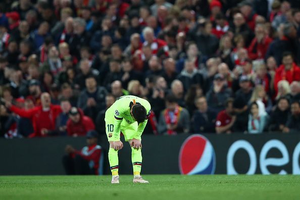
<svg viewBox="0 0 300 200">
<path fill-rule="evenodd" d="M 25 110 L 6 102 L 6 107 L 20 117 L 32 118 L 34 133 L 28 137 L 45 136 L 49 130 L 55 130 L 56 118 L 62 112 L 59 105 L 51 104 L 50 94 L 46 92 L 41 94 L 41 106 Z"/>
</svg>

